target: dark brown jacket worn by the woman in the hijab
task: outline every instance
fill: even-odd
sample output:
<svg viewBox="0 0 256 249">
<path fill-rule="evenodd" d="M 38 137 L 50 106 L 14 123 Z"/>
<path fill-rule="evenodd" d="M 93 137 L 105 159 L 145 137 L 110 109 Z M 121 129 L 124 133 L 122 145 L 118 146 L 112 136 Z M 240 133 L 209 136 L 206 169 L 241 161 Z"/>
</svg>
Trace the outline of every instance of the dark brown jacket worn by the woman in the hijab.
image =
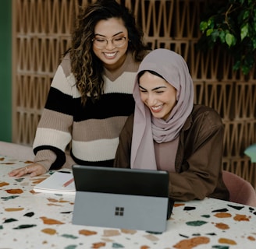
<svg viewBox="0 0 256 249">
<path fill-rule="evenodd" d="M 215 110 L 194 105 L 180 132 L 176 172 L 169 174 L 170 198 L 190 201 L 208 196 L 229 200 L 222 181 L 223 132 L 221 117 Z M 132 133 L 133 114 L 120 134 L 114 167 L 130 167 Z"/>
</svg>

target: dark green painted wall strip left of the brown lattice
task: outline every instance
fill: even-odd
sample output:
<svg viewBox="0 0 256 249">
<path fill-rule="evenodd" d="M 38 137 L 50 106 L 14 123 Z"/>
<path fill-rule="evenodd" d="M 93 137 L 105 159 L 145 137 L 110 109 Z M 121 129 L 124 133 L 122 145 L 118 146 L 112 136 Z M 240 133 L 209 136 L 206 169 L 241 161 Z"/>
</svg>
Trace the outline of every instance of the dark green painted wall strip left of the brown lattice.
<svg viewBox="0 0 256 249">
<path fill-rule="evenodd" d="M 12 1 L 0 8 L 0 140 L 12 141 Z"/>
</svg>

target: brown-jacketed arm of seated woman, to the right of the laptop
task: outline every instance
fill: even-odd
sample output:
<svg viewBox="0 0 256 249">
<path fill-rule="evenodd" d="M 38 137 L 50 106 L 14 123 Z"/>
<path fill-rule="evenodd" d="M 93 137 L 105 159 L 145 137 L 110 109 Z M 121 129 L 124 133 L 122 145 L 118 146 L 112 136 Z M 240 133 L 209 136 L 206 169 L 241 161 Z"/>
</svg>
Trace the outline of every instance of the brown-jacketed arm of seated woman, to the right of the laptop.
<svg viewBox="0 0 256 249">
<path fill-rule="evenodd" d="M 184 133 L 180 172 L 169 174 L 171 198 L 203 199 L 222 182 L 223 131 L 221 118 L 215 110 L 207 108 L 193 115 L 192 125 Z M 222 188 L 226 190 L 225 186 Z"/>
</svg>

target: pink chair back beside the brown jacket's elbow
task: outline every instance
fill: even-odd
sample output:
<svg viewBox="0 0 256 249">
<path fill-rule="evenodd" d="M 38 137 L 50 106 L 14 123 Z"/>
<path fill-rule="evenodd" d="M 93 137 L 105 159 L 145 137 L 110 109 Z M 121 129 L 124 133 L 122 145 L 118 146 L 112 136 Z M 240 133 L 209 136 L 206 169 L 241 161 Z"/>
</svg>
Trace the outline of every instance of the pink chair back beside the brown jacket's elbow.
<svg viewBox="0 0 256 249">
<path fill-rule="evenodd" d="M 248 181 L 226 170 L 223 170 L 222 177 L 229 190 L 230 202 L 256 207 L 256 191 Z"/>
</svg>

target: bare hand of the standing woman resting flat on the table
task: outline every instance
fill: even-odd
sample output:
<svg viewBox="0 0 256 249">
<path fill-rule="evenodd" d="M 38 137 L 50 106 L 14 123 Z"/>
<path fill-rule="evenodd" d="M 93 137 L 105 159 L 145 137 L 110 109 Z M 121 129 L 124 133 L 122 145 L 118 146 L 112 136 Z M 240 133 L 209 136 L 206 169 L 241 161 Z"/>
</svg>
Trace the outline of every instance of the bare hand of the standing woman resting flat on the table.
<svg viewBox="0 0 256 249">
<path fill-rule="evenodd" d="M 22 177 L 25 174 L 30 174 L 30 177 L 37 177 L 41 174 L 45 174 L 47 170 L 38 163 L 33 163 L 27 167 L 18 168 L 9 172 L 9 177 Z"/>
</svg>

